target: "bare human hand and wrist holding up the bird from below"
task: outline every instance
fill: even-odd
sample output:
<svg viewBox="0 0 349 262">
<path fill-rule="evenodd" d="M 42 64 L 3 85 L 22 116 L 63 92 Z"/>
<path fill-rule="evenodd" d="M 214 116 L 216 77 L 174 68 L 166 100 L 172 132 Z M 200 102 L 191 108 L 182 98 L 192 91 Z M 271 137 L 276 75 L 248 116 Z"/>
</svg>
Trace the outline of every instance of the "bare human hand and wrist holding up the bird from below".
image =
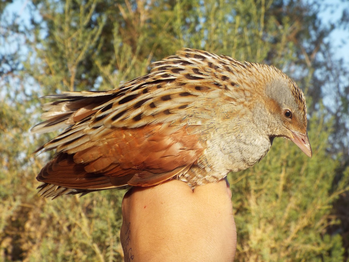
<svg viewBox="0 0 349 262">
<path fill-rule="evenodd" d="M 192 190 L 170 180 L 122 201 L 125 261 L 233 261 L 236 227 L 225 180 Z"/>
</svg>

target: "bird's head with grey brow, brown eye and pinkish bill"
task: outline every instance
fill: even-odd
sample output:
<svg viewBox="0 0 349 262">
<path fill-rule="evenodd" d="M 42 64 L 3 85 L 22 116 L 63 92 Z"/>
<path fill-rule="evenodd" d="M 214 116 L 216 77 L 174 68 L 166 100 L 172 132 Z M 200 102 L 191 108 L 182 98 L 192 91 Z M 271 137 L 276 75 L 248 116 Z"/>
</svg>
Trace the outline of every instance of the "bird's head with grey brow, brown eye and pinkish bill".
<svg viewBox="0 0 349 262">
<path fill-rule="evenodd" d="M 267 110 L 271 119 L 270 136 L 293 141 L 308 157 L 312 150 L 307 134 L 305 98 L 289 78 L 276 79 L 266 87 Z"/>
</svg>

